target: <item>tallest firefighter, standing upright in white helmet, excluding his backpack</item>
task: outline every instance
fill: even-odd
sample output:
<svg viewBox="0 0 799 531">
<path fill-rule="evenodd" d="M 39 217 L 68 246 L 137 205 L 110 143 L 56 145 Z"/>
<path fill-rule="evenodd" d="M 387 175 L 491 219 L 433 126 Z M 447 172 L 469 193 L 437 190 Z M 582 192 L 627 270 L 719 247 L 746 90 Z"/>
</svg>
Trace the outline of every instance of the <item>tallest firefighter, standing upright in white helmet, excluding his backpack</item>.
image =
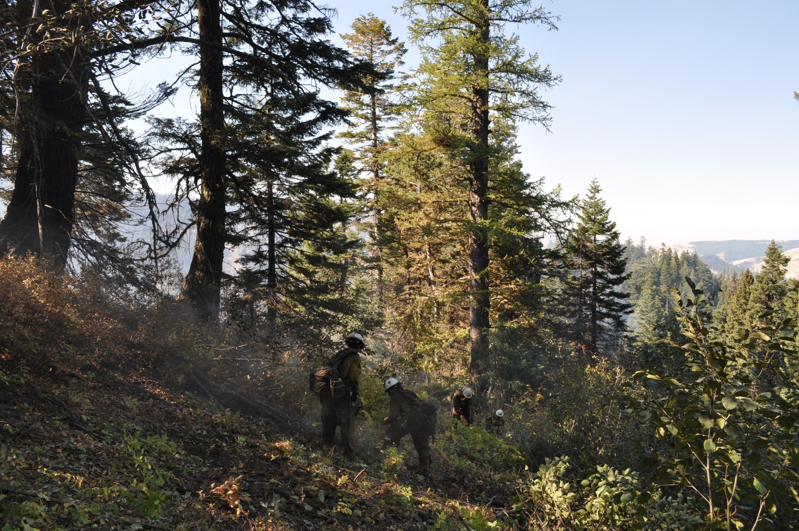
<svg viewBox="0 0 799 531">
<path fill-rule="evenodd" d="M 330 365 L 339 371 L 339 377 L 346 382 L 344 396 L 333 397 L 330 389 L 325 388 L 320 394 L 322 403 L 322 439 L 328 445 L 333 444 L 336 428 L 341 427 L 341 445 L 344 455 L 355 457 L 355 409 L 360 400 L 358 394 L 358 378 L 360 377 L 360 352 L 364 349 L 364 337 L 353 333 L 344 339 L 345 349 L 336 353 Z"/>
</svg>

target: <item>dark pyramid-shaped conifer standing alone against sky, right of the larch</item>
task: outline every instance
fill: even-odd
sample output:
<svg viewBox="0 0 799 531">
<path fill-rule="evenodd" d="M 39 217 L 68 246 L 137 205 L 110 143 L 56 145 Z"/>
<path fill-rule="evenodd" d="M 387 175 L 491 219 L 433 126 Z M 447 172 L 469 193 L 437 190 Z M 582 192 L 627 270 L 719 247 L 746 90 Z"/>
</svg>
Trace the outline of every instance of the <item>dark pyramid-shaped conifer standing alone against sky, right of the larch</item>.
<svg viewBox="0 0 799 531">
<path fill-rule="evenodd" d="M 607 340 L 625 329 L 624 315 L 632 305 L 618 288 L 629 277 L 625 273 L 624 246 L 618 242 L 610 208 L 599 198 L 599 183 L 591 181 L 582 201 L 577 227 L 566 243 L 567 313 L 574 322 L 574 339 L 587 353 L 605 350 Z"/>
</svg>

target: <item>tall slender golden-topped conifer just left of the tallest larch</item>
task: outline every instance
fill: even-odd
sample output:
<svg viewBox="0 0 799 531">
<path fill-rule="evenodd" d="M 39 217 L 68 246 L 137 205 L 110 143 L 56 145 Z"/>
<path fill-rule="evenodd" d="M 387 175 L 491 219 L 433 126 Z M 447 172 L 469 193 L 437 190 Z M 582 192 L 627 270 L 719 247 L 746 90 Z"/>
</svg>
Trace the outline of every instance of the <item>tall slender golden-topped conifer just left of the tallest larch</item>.
<svg viewBox="0 0 799 531">
<path fill-rule="evenodd" d="M 352 22 L 352 33 L 341 38 L 356 61 L 371 64 L 375 72 L 368 74 L 362 85 L 344 91 L 344 109 L 350 113 L 348 128 L 341 133 L 351 145 L 355 164 L 362 173 L 360 187 L 364 194 L 364 209 L 371 216 L 363 230 L 370 234 L 369 247 L 376 265 L 376 293 L 383 293 L 382 250 L 387 222 L 382 215 L 386 207 L 380 197 L 385 185 L 385 134 L 397 112 L 396 68 L 403 65 L 404 43 L 392 37 L 386 21 L 369 13 Z"/>
</svg>

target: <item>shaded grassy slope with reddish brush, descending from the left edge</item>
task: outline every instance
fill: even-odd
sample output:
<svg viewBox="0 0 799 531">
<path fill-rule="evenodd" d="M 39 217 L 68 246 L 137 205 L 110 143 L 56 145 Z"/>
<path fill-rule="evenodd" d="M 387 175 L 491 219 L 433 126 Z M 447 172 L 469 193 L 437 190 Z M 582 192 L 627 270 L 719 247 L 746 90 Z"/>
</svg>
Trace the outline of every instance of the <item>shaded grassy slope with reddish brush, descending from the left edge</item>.
<svg viewBox="0 0 799 531">
<path fill-rule="evenodd" d="M 523 458 L 482 429 L 442 415 L 425 478 L 407 467 L 412 446 L 380 453 L 364 413 L 345 461 L 320 445 L 304 381 L 247 385 L 260 364 L 242 373 L 229 349 L 204 346 L 225 337 L 182 324 L 171 303 L 125 308 L 91 281 L 0 263 L 4 531 L 459 529 L 456 513 L 503 529 L 517 513 L 487 504 L 512 503 Z M 382 418 L 379 382 L 365 387 Z"/>
</svg>

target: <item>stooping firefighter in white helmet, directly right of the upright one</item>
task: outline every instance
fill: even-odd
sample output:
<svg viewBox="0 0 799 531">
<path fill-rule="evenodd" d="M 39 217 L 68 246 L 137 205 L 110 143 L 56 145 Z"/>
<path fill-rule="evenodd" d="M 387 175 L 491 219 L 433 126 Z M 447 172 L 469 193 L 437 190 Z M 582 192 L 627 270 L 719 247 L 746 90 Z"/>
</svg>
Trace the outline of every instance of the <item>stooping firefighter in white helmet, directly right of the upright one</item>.
<svg viewBox="0 0 799 531">
<path fill-rule="evenodd" d="M 414 404 L 420 401 L 419 397 L 412 391 L 403 389 L 396 378 L 386 380 L 385 391 L 392 400 L 388 417 L 383 419 L 388 424 L 383 449 L 391 445 L 399 446 L 400 439 L 410 433 L 416 453 L 419 454 L 419 470 L 423 474 L 427 473 L 433 460 L 430 457 L 430 434 L 424 428 L 427 419 L 414 417 L 420 414 L 418 409 L 414 411 Z"/>
</svg>

